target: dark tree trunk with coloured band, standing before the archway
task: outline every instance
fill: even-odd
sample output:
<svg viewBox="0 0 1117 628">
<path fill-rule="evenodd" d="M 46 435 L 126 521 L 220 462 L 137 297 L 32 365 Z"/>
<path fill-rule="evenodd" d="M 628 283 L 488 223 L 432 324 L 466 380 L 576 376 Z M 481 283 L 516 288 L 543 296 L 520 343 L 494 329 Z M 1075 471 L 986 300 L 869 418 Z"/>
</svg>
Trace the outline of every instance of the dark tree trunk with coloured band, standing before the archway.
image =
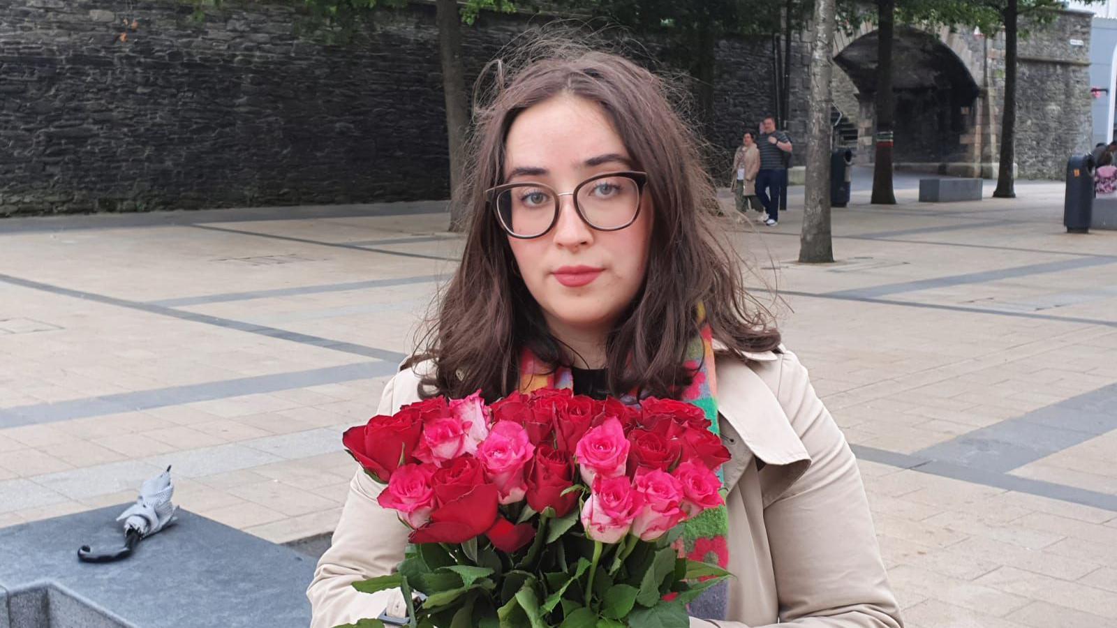
<svg viewBox="0 0 1117 628">
<path fill-rule="evenodd" d="M 892 124 L 896 98 L 892 95 L 892 37 L 896 30 L 896 0 L 877 0 L 880 26 L 877 29 L 877 155 L 872 169 L 873 204 L 896 204 L 892 190 Z"/>
</svg>

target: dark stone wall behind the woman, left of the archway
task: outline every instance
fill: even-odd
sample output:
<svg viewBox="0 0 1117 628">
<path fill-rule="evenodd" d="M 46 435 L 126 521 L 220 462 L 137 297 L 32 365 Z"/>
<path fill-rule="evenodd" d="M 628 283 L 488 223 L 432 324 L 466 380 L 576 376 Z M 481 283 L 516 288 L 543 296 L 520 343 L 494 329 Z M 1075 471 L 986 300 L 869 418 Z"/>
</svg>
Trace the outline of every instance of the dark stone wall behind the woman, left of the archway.
<svg viewBox="0 0 1117 628">
<path fill-rule="evenodd" d="M 198 22 L 175 0 L 0 2 L 0 216 L 448 196 L 432 6 L 331 46 L 294 35 L 293 3 L 227 4 Z M 529 20 L 465 29 L 469 84 Z M 715 154 L 771 108 L 770 55 L 719 44 Z"/>
</svg>

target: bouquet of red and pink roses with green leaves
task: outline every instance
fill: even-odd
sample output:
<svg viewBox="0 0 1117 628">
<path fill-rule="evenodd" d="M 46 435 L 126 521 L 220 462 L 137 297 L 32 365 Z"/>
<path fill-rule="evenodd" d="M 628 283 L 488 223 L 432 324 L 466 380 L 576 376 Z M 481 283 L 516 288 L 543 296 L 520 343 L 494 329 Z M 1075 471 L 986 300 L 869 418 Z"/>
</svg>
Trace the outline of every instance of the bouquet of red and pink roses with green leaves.
<svg viewBox="0 0 1117 628">
<path fill-rule="evenodd" d="M 408 525 L 395 573 L 417 627 L 686 627 L 729 574 L 681 558 L 684 522 L 724 504 L 729 459 L 701 409 L 543 389 L 433 398 L 343 443 Z M 364 619 L 355 626 L 382 626 Z"/>
</svg>

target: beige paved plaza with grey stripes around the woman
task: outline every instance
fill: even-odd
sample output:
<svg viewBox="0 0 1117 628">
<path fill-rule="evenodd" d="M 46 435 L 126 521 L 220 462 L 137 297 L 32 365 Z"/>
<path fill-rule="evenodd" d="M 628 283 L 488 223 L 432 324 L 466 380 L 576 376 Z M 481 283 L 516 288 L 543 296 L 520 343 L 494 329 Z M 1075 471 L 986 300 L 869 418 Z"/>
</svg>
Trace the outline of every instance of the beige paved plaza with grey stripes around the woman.
<svg viewBox="0 0 1117 628">
<path fill-rule="evenodd" d="M 833 265 L 795 261 L 802 188 L 776 228 L 723 220 L 860 459 L 907 625 L 1117 627 L 1117 232 L 1066 234 L 1059 183 L 924 204 L 898 175 L 880 207 L 857 177 Z M 461 250 L 442 207 L 0 220 L 0 527 L 173 465 L 193 513 L 328 533 L 341 432 Z"/>
</svg>

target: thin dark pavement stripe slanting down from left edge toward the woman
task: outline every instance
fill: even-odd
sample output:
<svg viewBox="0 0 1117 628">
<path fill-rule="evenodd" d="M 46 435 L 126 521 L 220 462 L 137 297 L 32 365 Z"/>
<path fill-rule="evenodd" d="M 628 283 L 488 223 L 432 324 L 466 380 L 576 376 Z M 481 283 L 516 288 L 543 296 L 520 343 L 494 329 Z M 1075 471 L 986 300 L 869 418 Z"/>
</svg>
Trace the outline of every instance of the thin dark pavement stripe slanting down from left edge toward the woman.
<svg viewBox="0 0 1117 628">
<path fill-rule="evenodd" d="M 95 303 L 103 303 L 105 305 L 115 305 L 117 307 L 127 307 L 130 310 L 139 310 L 141 312 L 159 314 L 161 316 L 170 316 L 172 318 L 179 318 L 181 321 L 190 321 L 192 323 L 203 323 L 207 325 L 225 327 L 227 330 L 236 330 L 239 332 L 246 332 L 250 334 L 258 334 L 279 340 L 289 340 L 292 342 L 298 342 L 302 344 L 321 346 L 323 349 L 330 349 L 332 351 L 341 351 L 344 353 L 352 353 L 354 355 L 364 355 L 365 358 L 375 358 L 376 360 L 385 360 L 392 363 L 399 363 L 404 358 L 402 353 L 398 353 L 395 351 L 386 351 L 384 349 L 376 349 L 374 346 L 365 346 L 363 344 L 356 344 L 352 342 L 342 342 L 342 341 L 331 340 L 327 337 L 302 334 L 298 332 L 290 332 L 287 330 L 279 330 L 276 327 L 269 327 L 267 325 L 257 325 L 255 323 L 233 321 L 231 318 L 222 318 L 220 316 L 210 316 L 208 314 L 183 312 L 181 310 L 163 307 L 161 305 L 152 305 L 147 303 L 141 303 L 137 301 L 128 301 L 125 298 L 116 298 L 113 296 L 105 296 L 84 291 L 75 291 L 70 288 L 64 288 L 60 286 L 54 286 L 50 284 L 44 284 L 40 282 L 32 282 L 30 279 L 12 277 L 11 275 L 0 275 L 0 282 L 6 282 L 25 288 L 44 291 L 60 296 L 84 298 L 87 301 L 93 301 Z"/>
</svg>

